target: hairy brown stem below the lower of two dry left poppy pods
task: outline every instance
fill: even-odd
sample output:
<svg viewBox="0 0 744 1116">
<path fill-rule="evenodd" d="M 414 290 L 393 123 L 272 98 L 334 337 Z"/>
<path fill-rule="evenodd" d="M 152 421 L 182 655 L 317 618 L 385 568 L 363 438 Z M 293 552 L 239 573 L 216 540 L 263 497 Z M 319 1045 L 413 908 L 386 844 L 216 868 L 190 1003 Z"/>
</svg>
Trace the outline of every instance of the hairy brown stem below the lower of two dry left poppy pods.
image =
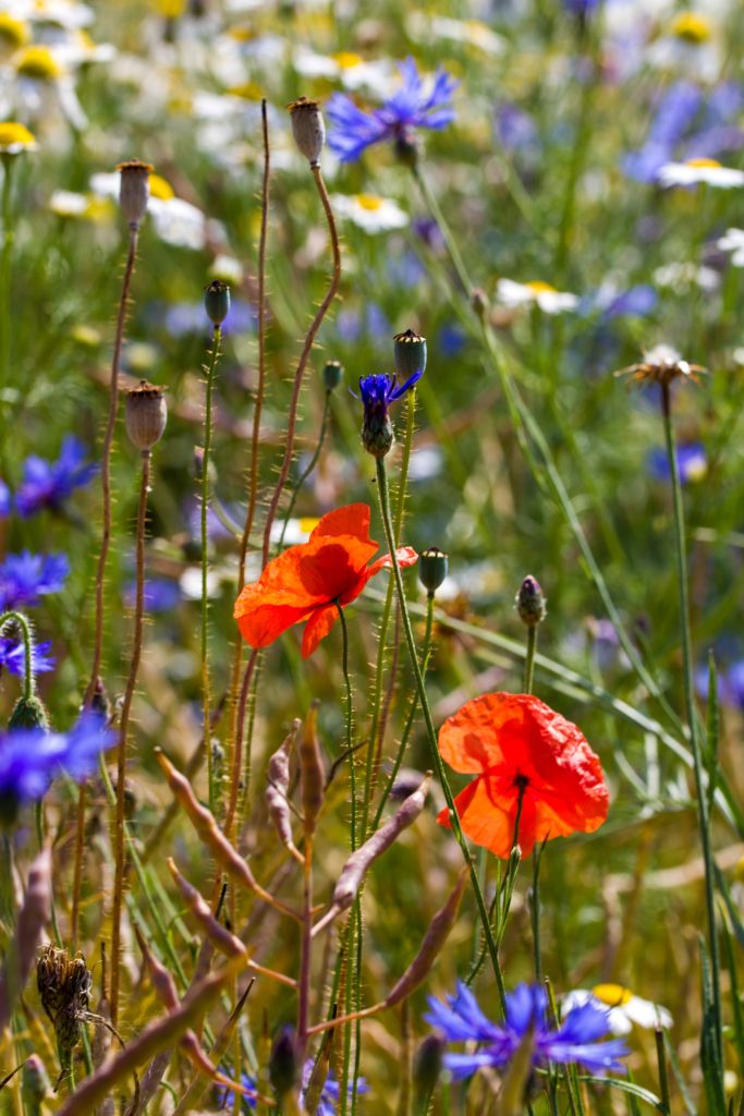
<svg viewBox="0 0 744 1116">
<path fill-rule="evenodd" d="M 119 721 L 119 744 L 116 763 L 116 820 L 114 828 L 114 910 L 112 912 L 112 988 L 110 988 L 110 1012 L 114 1027 L 118 1023 L 119 1007 L 119 969 L 122 953 L 122 906 L 124 903 L 124 829 L 125 829 L 125 783 L 126 783 L 126 745 L 129 731 L 129 714 L 132 712 L 132 701 L 134 690 L 137 684 L 137 672 L 139 670 L 139 658 L 142 656 L 143 632 L 145 624 L 145 520 L 147 517 L 147 493 L 149 492 L 149 465 L 151 451 L 142 451 L 142 480 L 139 483 L 139 503 L 137 508 L 137 536 L 136 536 L 136 596 L 134 610 L 134 641 L 132 647 L 132 660 L 129 663 L 129 674 L 127 677 L 124 703 L 122 705 L 122 720 Z"/>
</svg>

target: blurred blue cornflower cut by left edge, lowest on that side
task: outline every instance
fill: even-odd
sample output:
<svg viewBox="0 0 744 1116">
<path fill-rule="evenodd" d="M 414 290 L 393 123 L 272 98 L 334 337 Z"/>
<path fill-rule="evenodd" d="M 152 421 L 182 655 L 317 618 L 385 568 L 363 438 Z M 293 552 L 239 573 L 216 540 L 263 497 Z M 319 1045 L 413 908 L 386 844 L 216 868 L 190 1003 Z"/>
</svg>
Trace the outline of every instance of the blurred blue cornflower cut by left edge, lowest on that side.
<svg viewBox="0 0 744 1116">
<path fill-rule="evenodd" d="M 91 711 L 83 713 L 69 732 L 11 729 L 0 733 L 0 816 L 12 819 L 23 802 L 41 798 L 62 769 L 74 779 L 85 778 L 115 740 L 105 719 Z"/>
</svg>

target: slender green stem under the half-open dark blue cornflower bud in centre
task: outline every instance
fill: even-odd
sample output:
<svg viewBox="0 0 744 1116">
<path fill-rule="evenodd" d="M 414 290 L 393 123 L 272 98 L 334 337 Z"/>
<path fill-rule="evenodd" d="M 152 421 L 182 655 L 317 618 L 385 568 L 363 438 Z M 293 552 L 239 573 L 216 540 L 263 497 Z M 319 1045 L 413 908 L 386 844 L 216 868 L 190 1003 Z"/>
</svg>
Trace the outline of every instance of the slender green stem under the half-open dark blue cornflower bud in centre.
<svg viewBox="0 0 744 1116">
<path fill-rule="evenodd" d="M 426 722 L 426 732 L 428 735 L 429 749 L 432 751 L 432 759 L 434 761 L 434 767 L 436 769 L 436 773 L 439 777 L 439 782 L 442 783 L 442 790 L 444 791 L 444 797 L 447 802 L 450 822 L 452 825 L 453 833 L 457 838 L 457 844 L 460 845 L 461 852 L 463 854 L 463 859 L 470 873 L 473 894 L 475 895 L 475 902 L 479 908 L 479 913 L 481 915 L 481 921 L 483 922 L 483 933 L 485 935 L 485 942 L 489 949 L 489 954 L 491 956 L 493 972 L 496 979 L 496 984 L 499 987 L 499 997 L 501 999 L 502 1010 L 504 1010 L 506 1004 L 506 991 L 504 988 L 504 981 L 501 973 L 501 965 L 499 964 L 499 952 L 493 936 L 493 929 L 491 926 L 491 921 L 489 918 L 489 911 L 485 905 L 485 899 L 483 897 L 483 891 L 481 889 L 481 883 L 477 878 L 477 872 L 475 870 L 475 865 L 470 854 L 470 849 L 465 840 L 465 835 L 463 834 L 462 826 L 460 825 L 460 817 L 457 815 L 457 808 L 455 807 L 452 789 L 447 780 L 447 773 L 444 769 L 442 757 L 439 756 L 439 749 L 436 740 L 436 729 L 434 728 L 432 710 L 429 708 L 428 698 L 426 695 L 424 675 L 422 674 L 422 668 L 418 664 L 418 656 L 416 655 L 416 641 L 414 638 L 414 632 L 410 625 L 408 603 L 406 600 L 406 594 L 403 587 L 403 577 L 400 576 L 400 567 L 398 566 L 398 559 L 395 550 L 395 536 L 393 532 L 393 521 L 390 518 L 390 496 L 387 485 L 387 471 L 385 469 L 385 459 L 377 458 L 376 465 L 377 465 L 377 489 L 379 492 L 379 504 L 380 504 L 380 512 L 383 516 L 383 526 L 385 528 L 385 537 L 387 540 L 387 546 L 390 551 L 390 559 L 393 562 L 393 577 L 395 578 L 395 589 L 398 596 L 398 604 L 400 605 L 400 615 L 403 617 L 403 631 L 406 637 L 406 645 L 408 647 L 408 657 L 410 658 L 410 665 L 413 667 L 414 676 L 416 679 L 416 687 L 418 690 L 418 698 L 422 704 L 424 721 Z"/>
</svg>

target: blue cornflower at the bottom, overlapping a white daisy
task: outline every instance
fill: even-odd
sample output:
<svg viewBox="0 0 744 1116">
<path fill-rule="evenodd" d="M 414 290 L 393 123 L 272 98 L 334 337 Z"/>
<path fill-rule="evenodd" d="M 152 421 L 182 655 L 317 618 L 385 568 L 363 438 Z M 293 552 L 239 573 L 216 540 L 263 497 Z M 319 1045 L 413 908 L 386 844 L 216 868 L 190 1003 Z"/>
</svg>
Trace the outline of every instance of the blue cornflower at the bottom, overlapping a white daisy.
<svg viewBox="0 0 744 1116">
<path fill-rule="evenodd" d="M 532 1031 L 532 1065 L 545 1066 L 549 1061 L 577 1061 L 588 1070 L 621 1070 L 618 1060 L 628 1054 L 625 1042 L 610 1039 L 599 1042 L 610 1031 L 608 1012 L 593 1003 L 582 1004 L 569 1012 L 561 1026 L 551 1030 L 547 1020 L 548 993 L 540 985 L 519 984 L 506 993 L 506 1019 L 497 1026 L 487 1019 L 477 1006 L 471 990 L 457 982 L 457 993 L 448 995 L 446 1003 L 429 997 L 431 1013 L 426 1016 L 447 1042 L 482 1043 L 472 1055 L 447 1054 L 445 1068 L 455 1080 L 470 1077 L 483 1067 L 501 1069 L 519 1049 L 524 1036 Z"/>
</svg>

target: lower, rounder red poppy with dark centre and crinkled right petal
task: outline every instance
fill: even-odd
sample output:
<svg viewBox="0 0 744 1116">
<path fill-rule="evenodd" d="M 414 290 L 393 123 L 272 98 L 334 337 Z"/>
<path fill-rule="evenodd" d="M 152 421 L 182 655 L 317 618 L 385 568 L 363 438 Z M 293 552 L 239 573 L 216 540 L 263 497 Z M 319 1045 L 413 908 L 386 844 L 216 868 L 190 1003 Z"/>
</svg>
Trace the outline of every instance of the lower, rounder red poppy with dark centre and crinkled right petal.
<svg viewBox="0 0 744 1116">
<path fill-rule="evenodd" d="M 455 771 L 477 773 L 455 798 L 463 833 L 508 857 L 522 798 L 522 855 L 547 837 L 593 833 L 609 795 L 599 759 L 583 733 L 530 694 L 483 694 L 439 731 L 439 752 Z M 448 826 L 447 810 L 437 817 Z"/>
</svg>

